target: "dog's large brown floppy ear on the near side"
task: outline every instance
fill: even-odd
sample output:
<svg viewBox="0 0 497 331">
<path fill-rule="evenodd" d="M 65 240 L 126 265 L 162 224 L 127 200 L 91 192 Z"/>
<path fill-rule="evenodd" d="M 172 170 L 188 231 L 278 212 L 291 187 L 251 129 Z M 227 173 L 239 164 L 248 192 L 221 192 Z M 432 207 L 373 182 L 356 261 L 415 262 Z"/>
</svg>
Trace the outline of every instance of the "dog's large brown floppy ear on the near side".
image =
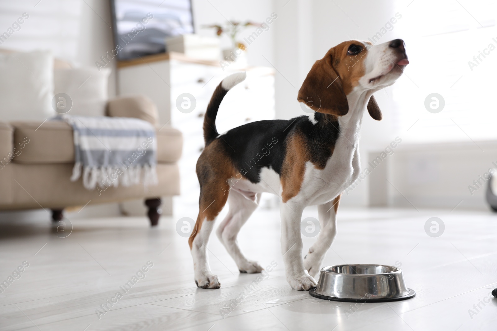
<svg viewBox="0 0 497 331">
<path fill-rule="evenodd" d="M 332 64 L 333 49 L 316 61 L 299 90 L 297 100 L 316 112 L 343 116 L 348 112 L 347 96 Z"/>
</svg>

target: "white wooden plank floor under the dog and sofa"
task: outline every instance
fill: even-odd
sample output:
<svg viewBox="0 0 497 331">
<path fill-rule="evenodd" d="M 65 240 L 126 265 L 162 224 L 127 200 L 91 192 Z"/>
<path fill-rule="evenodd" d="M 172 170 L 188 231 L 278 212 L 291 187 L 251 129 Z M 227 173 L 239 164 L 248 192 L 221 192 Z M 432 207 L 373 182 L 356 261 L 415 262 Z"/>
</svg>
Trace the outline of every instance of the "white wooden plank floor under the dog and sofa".
<svg viewBox="0 0 497 331">
<path fill-rule="evenodd" d="M 209 243 L 221 289 L 195 286 L 186 239 L 162 218 L 73 220 L 66 238 L 44 221 L 0 224 L 0 281 L 24 261 L 20 278 L 0 293 L 0 330 L 496 330 L 497 216 L 490 212 L 341 208 L 338 235 L 325 265 L 398 265 L 417 295 L 364 304 L 322 301 L 292 290 L 284 277 L 279 213 L 258 210 L 239 243 L 262 266 L 277 263 L 252 290 L 256 274 L 240 274 L 215 235 Z M 317 217 L 315 209 L 304 217 Z M 438 238 L 424 232 L 432 216 Z M 307 250 L 314 238 L 304 237 Z M 120 299 L 116 292 L 144 265 L 153 266 Z M 17 277 L 18 275 L 15 274 Z M 245 297 L 224 319 L 222 309 Z M 481 302 L 489 301 L 483 305 Z M 98 318 L 107 300 L 115 303 Z M 480 307 L 478 307 L 480 305 Z M 476 308 L 475 308 L 476 307 Z M 470 310 L 474 313 L 470 314 Z"/>
</svg>

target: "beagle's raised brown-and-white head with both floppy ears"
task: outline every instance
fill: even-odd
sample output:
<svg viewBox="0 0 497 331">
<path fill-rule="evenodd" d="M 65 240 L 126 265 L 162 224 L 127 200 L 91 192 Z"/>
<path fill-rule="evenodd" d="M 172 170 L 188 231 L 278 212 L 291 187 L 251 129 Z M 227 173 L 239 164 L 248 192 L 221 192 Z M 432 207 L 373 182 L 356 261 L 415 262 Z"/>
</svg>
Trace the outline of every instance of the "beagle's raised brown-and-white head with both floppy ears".
<svg viewBox="0 0 497 331">
<path fill-rule="evenodd" d="M 378 45 L 345 41 L 312 66 L 299 90 L 298 101 L 317 112 L 343 116 L 348 113 L 347 95 L 373 93 L 392 85 L 408 64 L 402 39 Z M 373 119 L 382 119 L 372 95 L 367 108 Z"/>
</svg>

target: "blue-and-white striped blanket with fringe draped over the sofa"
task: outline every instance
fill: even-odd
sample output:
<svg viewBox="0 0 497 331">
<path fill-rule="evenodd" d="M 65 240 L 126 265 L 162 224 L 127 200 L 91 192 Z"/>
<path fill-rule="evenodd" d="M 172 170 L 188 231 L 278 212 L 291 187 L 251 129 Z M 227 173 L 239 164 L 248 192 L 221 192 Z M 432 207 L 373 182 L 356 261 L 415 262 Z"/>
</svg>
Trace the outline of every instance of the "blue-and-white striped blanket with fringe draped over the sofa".
<svg viewBox="0 0 497 331">
<path fill-rule="evenodd" d="M 154 127 L 123 117 L 62 116 L 74 131 L 75 165 L 71 181 L 83 173 L 88 190 L 157 185 L 157 141 Z"/>
</svg>

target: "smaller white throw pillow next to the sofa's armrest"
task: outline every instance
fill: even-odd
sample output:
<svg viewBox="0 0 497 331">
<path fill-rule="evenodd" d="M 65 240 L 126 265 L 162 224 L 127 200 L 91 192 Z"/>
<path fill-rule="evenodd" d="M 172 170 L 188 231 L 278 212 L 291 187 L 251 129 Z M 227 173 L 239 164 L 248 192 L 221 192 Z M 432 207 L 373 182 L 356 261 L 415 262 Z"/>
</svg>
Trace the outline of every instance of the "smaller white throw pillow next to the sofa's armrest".
<svg viewBox="0 0 497 331">
<path fill-rule="evenodd" d="M 54 75 L 55 95 L 66 93 L 72 100 L 68 115 L 105 116 L 110 68 L 56 69 Z"/>
</svg>

